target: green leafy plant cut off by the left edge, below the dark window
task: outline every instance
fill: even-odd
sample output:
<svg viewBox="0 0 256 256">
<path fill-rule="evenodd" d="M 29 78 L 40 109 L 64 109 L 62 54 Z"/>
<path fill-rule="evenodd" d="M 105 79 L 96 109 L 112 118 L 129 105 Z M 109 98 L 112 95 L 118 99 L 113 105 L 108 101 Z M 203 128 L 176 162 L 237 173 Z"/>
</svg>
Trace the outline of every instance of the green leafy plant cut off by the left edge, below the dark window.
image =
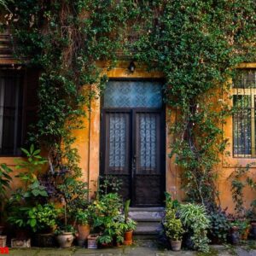
<svg viewBox="0 0 256 256">
<path fill-rule="evenodd" d="M 0 224 L 3 221 L 3 207 L 7 201 L 7 191 L 10 190 L 12 177 L 9 174 L 13 172 L 6 164 L 0 164 Z"/>
</svg>

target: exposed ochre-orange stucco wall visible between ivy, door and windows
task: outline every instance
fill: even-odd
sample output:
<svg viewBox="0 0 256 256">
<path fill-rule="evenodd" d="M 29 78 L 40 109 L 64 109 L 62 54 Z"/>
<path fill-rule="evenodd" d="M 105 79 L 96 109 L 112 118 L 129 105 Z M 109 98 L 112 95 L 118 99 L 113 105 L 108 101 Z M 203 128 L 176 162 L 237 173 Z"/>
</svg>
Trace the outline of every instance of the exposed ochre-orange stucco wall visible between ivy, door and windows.
<svg viewBox="0 0 256 256">
<path fill-rule="evenodd" d="M 104 63 L 100 63 L 104 67 Z M 113 68 L 111 71 L 103 69 L 103 73 L 106 73 L 110 79 L 113 78 L 162 78 L 161 73 L 148 73 L 145 67 L 139 67 L 136 63 L 136 70 L 134 73 L 129 73 L 127 67 L 129 62 L 120 62 L 118 67 Z M 256 63 L 243 64 L 240 67 L 256 67 Z M 96 87 L 85 87 L 86 90 L 96 90 Z M 84 129 L 74 131 L 74 135 L 77 137 L 75 147 L 79 150 L 80 166 L 83 172 L 83 180 L 89 183 L 90 195 L 94 195 L 96 191 L 96 182 L 100 173 L 100 113 L 101 113 L 101 99 L 96 97 L 90 102 L 90 111 L 87 110 L 87 115 L 84 117 Z M 180 176 L 181 170 L 175 165 L 173 159 L 168 157 L 170 148 L 168 145 L 171 143 L 171 138 L 168 136 L 168 124 L 170 120 L 175 119 L 175 114 L 170 115 L 170 109 L 166 109 L 166 191 L 170 192 L 174 198 L 178 200 L 183 199 L 183 191 L 180 189 Z M 232 152 L 232 118 L 227 119 L 226 125 L 224 125 L 225 137 L 229 138 L 229 146 L 227 150 Z M 247 163 L 253 162 L 253 159 L 241 159 L 233 158 L 232 156 L 224 157 L 221 159 L 221 163 L 217 166 L 219 178 L 218 189 L 220 191 L 220 199 L 223 207 L 228 207 L 228 211 L 233 211 L 233 202 L 230 192 L 230 181 L 228 177 L 230 173 L 235 170 L 235 166 L 245 166 Z M 9 166 L 14 167 L 14 158 L 0 158 L 0 162 L 7 163 Z M 253 177 L 256 176 L 256 166 L 252 168 Z M 256 178 L 256 177 L 255 177 Z M 17 185 L 16 181 L 14 186 Z M 245 190 L 245 200 L 247 206 L 250 201 L 256 198 L 254 192 L 250 189 Z"/>
</svg>

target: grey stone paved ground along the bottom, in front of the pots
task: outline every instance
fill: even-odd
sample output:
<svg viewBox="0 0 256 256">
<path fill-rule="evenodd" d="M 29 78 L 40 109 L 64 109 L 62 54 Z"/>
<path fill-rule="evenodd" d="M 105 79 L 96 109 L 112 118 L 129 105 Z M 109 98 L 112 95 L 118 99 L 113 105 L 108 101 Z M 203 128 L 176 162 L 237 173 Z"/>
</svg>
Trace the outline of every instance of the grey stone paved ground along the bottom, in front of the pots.
<svg viewBox="0 0 256 256">
<path fill-rule="evenodd" d="M 242 247 L 212 246 L 210 253 L 195 253 L 191 251 L 172 252 L 157 247 L 154 241 L 137 241 L 131 247 L 113 247 L 108 249 L 85 249 L 72 247 L 70 249 L 60 248 L 36 248 L 9 249 L 9 255 L 13 256 L 113 256 L 113 255 L 134 255 L 134 256 L 256 256 L 256 241 Z"/>
</svg>

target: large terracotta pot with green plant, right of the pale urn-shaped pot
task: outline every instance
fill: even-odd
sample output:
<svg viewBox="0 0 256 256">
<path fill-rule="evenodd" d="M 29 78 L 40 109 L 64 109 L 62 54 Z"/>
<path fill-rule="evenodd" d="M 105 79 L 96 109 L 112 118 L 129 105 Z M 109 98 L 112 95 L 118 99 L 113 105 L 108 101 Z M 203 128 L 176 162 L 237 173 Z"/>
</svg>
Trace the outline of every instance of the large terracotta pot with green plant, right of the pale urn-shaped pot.
<svg viewBox="0 0 256 256">
<path fill-rule="evenodd" d="M 90 235 L 90 211 L 89 209 L 79 209 L 76 214 L 76 224 L 78 229 L 77 240 L 80 247 L 84 246 L 84 242 Z"/>
</svg>

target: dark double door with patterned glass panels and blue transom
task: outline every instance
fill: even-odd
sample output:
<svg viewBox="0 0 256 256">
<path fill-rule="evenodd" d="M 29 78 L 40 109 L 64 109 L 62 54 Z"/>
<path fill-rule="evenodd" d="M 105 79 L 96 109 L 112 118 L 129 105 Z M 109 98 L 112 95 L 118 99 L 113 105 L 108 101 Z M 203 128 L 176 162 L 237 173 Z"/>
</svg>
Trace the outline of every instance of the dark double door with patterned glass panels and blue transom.
<svg viewBox="0 0 256 256">
<path fill-rule="evenodd" d="M 158 81 L 111 80 L 102 106 L 102 174 L 122 180 L 133 206 L 159 206 L 165 188 L 165 126 Z"/>
</svg>

